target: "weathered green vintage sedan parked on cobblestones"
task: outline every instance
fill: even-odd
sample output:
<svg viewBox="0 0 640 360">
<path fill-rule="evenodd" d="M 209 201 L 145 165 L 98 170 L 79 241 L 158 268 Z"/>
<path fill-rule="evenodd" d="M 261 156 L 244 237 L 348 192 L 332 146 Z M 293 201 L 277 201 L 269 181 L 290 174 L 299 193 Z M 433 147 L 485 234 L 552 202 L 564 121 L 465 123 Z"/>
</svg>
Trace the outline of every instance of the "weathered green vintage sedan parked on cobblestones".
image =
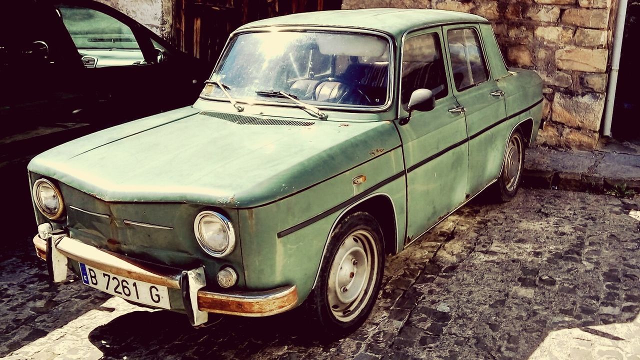
<svg viewBox="0 0 640 360">
<path fill-rule="evenodd" d="M 540 77 L 508 69 L 476 15 L 252 22 L 193 106 L 31 161 L 33 242 L 52 281 L 70 269 L 193 325 L 301 306 L 345 334 L 385 257 L 485 189 L 515 195 L 541 112 Z"/>
</svg>

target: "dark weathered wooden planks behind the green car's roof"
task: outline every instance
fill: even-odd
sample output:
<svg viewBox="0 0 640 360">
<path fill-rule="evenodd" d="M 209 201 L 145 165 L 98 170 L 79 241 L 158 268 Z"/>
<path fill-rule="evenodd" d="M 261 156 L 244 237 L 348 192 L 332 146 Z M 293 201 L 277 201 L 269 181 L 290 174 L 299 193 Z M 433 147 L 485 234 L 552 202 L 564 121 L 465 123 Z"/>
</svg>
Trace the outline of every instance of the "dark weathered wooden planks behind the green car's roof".
<svg viewBox="0 0 640 360">
<path fill-rule="evenodd" d="M 342 0 L 176 0 L 173 43 L 213 64 L 239 26 L 291 13 L 339 10 Z"/>
</svg>

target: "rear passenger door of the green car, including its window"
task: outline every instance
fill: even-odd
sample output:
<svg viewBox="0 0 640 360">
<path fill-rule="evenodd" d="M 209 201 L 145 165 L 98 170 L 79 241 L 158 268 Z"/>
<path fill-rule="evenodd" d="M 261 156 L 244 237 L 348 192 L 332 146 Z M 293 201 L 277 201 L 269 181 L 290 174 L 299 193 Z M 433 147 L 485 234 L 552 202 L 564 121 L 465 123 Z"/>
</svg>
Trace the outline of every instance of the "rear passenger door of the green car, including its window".
<svg viewBox="0 0 640 360">
<path fill-rule="evenodd" d="M 506 138 L 497 126 L 506 119 L 504 93 L 487 65 L 479 27 L 445 26 L 443 31 L 451 59 L 452 91 L 467 120 L 469 197 L 495 179 L 502 167 Z"/>
</svg>

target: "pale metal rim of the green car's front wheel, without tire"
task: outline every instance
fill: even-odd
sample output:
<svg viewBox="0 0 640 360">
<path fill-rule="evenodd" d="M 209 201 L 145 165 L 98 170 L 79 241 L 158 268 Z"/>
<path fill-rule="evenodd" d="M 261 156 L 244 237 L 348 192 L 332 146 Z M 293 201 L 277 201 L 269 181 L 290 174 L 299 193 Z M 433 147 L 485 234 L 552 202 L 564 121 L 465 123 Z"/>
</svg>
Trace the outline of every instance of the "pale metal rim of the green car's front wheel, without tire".
<svg viewBox="0 0 640 360">
<path fill-rule="evenodd" d="M 349 322 L 362 312 L 378 277 L 378 261 L 369 231 L 356 230 L 342 240 L 327 287 L 329 307 L 337 320 Z"/>
</svg>

